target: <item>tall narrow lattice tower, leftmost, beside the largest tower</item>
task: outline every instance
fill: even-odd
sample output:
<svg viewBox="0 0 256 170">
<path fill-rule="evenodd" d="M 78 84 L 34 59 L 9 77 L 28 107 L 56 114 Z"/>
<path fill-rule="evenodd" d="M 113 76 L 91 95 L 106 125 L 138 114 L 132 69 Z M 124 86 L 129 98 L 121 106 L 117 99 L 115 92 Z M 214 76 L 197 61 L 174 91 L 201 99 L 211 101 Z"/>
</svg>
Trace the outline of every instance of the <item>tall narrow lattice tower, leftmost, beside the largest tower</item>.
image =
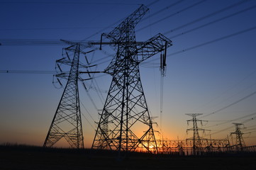
<svg viewBox="0 0 256 170">
<path fill-rule="evenodd" d="M 65 58 L 57 60 L 65 64 L 71 64 L 71 69 L 43 147 L 52 147 L 64 137 L 71 147 L 84 148 L 78 91 L 80 44 L 76 43 L 66 48 L 66 50 L 74 52 L 74 57 L 72 61 Z M 57 74 L 56 77 L 62 77 L 63 75 L 65 74 Z"/>
</svg>

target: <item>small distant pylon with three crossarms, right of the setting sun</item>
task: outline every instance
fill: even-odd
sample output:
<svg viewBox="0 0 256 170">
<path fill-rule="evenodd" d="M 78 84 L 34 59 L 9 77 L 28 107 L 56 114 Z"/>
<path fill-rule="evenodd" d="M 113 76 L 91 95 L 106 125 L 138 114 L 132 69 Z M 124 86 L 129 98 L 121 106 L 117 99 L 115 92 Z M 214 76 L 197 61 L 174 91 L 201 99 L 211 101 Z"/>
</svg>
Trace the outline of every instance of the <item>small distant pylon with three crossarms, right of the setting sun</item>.
<svg viewBox="0 0 256 170">
<path fill-rule="evenodd" d="M 193 144 L 192 149 L 193 149 L 193 154 L 195 155 L 198 152 L 201 152 L 201 148 L 202 148 L 201 140 L 203 140 L 203 138 L 199 136 L 199 130 L 205 131 L 202 128 L 198 128 L 197 122 L 201 122 L 202 124 L 202 122 L 206 120 L 199 120 L 198 118 L 196 118 L 196 116 L 202 115 L 201 113 L 188 113 L 186 115 L 189 115 L 192 117 L 190 120 L 187 120 L 187 123 L 189 124 L 189 122 L 193 122 L 193 128 L 187 129 L 187 131 L 193 130 L 193 137 L 186 139 L 186 141 L 192 140 L 192 144 Z"/>
</svg>

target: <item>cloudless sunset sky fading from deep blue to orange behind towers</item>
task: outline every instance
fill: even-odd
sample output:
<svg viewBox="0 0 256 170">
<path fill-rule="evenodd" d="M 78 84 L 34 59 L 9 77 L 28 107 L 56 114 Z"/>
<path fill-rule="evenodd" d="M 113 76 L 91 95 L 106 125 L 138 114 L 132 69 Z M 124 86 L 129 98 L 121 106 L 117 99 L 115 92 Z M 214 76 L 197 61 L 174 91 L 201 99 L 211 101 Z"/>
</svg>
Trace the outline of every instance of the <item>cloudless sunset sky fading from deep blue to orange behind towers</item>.
<svg viewBox="0 0 256 170">
<path fill-rule="evenodd" d="M 98 41 L 101 33 L 113 30 L 117 21 L 140 4 L 149 5 L 150 11 L 135 28 L 137 40 L 162 33 L 173 42 L 167 50 L 162 123 L 160 54 L 140 67 L 150 113 L 158 117 L 155 121 L 159 126 L 155 129 L 162 126 L 165 138 L 183 140 L 192 135 L 186 133 L 191 124 L 187 125 L 190 118 L 185 113 L 203 113 L 207 116 L 202 119 L 208 123 L 200 127 L 211 130 L 212 138 L 226 138 L 235 131 L 232 123 L 245 123 L 244 132 L 251 132 L 243 135 L 245 142 L 256 145 L 255 0 L 1 0 L 0 70 L 53 71 L 62 47 L 67 47 L 5 45 L 2 39 Z M 114 55 L 111 50 L 106 52 Z M 98 65 L 93 70 L 104 70 L 109 60 L 111 57 L 104 52 L 96 52 L 92 61 Z M 91 147 L 94 121 L 99 120 L 96 109 L 103 108 L 101 100 L 106 98 L 111 83 L 108 75 L 95 77 L 103 96 L 100 94 L 100 99 L 93 88 L 89 90 L 96 108 L 87 92 L 79 90 L 80 101 L 92 117 L 82 106 L 86 147 Z M 63 89 L 52 86 L 52 74 L 1 73 L 0 79 L 0 143 L 43 145 Z"/>
</svg>

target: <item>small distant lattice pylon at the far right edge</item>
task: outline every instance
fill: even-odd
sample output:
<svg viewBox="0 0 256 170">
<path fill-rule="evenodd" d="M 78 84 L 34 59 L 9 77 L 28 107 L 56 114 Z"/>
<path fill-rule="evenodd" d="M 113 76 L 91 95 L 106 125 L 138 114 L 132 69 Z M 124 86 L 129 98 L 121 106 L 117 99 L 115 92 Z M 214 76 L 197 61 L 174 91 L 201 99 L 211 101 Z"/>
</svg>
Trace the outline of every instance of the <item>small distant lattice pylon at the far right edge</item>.
<svg viewBox="0 0 256 170">
<path fill-rule="evenodd" d="M 243 132 L 241 132 L 242 123 L 233 123 L 235 125 L 235 132 L 230 132 L 230 135 L 235 134 L 235 147 L 239 151 L 243 151 L 243 147 L 245 147 L 245 141 L 243 140 Z"/>
</svg>

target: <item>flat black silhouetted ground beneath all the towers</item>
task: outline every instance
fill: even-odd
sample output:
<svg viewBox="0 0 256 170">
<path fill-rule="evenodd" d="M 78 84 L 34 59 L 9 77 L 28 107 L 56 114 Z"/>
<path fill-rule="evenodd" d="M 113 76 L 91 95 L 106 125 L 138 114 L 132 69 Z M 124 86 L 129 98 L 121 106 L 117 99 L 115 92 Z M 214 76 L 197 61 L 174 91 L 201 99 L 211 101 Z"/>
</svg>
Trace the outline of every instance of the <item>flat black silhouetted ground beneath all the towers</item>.
<svg viewBox="0 0 256 170">
<path fill-rule="evenodd" d="M 225 154 L 178 157 L 130 154 L 118 159 L 116 152 L 89 149 L 43 149 L 28 146 L 0 146 L 0 169 L 241 169 L 256 170 L 255 154 Z"/>
</svg>

